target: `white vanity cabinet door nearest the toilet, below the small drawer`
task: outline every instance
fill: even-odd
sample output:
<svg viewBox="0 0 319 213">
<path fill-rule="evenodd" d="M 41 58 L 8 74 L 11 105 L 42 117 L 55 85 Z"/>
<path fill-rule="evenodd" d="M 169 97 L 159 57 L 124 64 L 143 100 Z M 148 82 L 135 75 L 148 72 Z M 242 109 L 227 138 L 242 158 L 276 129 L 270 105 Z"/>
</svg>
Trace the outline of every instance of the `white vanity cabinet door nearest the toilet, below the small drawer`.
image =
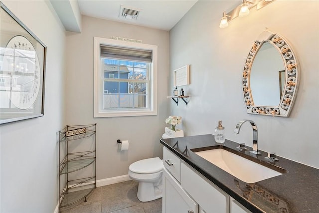
<svg viewBox="0 0 319 213">
<path fill-rule="evenodd" d="M 165 168 L 163 169 L 163 213 L 198 213 L 198 204 Z"/>
</svg>

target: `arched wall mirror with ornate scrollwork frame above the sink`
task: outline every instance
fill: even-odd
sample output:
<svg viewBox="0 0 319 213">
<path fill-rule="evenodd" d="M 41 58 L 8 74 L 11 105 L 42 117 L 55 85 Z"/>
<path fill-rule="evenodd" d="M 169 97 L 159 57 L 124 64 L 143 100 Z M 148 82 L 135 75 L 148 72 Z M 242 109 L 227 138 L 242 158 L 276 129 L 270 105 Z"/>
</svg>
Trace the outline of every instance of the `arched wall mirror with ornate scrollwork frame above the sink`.
<svg viewBox="0 0 319 213">
<path fill-rule="evenodd" d="M 247 112 L 287 117 L 297 92 L 297 59 L 287 41 L 265 30 L 249 51 L 242 86 Z"/>
</svg>

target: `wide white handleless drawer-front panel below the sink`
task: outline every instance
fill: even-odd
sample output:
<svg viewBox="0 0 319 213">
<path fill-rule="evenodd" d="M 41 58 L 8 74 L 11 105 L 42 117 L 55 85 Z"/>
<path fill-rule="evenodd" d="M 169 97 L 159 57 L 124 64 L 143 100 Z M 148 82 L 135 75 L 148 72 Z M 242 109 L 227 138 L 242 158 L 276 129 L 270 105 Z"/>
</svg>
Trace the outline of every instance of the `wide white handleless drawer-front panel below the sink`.
<svg viewBox="0 0 319 213">
<path fill-rule="evenodd" d="M 181 163 L 181 186 L 205 212 L 229 212 L 229 196 L 185 162 Z"/>
</svg>

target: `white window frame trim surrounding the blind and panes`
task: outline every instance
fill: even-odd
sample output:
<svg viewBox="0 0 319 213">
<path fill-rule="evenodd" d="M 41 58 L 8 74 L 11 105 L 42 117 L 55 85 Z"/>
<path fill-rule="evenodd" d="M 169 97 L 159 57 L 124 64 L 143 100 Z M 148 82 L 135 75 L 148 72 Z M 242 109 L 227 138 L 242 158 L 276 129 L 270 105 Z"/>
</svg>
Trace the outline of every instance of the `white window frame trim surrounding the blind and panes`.
<svg viewBox="0 0 319 213">
<path fill-rule="evenodd" d="M 100 45 L 111 45 L 124 48 L 144 49 L 152 51 L 152 63 L 150 72 L 150 107 L 145 109 L 108 109 L 102 107 L 103 79 L 101 75 Z M 157 115 L 157 46 L 150 44 L 134 43 L 128 41 L 113 40 L 94 37 L 94 118 L 101 117 L 125 117 Z"/>
</svg>

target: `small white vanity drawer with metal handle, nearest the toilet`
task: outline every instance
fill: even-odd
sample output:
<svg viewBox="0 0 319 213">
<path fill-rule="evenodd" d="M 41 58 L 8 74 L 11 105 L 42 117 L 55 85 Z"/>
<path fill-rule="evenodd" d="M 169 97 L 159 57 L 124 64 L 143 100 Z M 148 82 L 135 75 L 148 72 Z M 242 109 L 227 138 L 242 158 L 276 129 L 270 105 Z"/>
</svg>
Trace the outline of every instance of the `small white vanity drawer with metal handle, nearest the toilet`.
<svg viewBox="0 0 319 213">
<path fill-rule="evenodd" d="M 164 147 L 164 166 L 180 182 L 180 158 Z"/>
</svg>

